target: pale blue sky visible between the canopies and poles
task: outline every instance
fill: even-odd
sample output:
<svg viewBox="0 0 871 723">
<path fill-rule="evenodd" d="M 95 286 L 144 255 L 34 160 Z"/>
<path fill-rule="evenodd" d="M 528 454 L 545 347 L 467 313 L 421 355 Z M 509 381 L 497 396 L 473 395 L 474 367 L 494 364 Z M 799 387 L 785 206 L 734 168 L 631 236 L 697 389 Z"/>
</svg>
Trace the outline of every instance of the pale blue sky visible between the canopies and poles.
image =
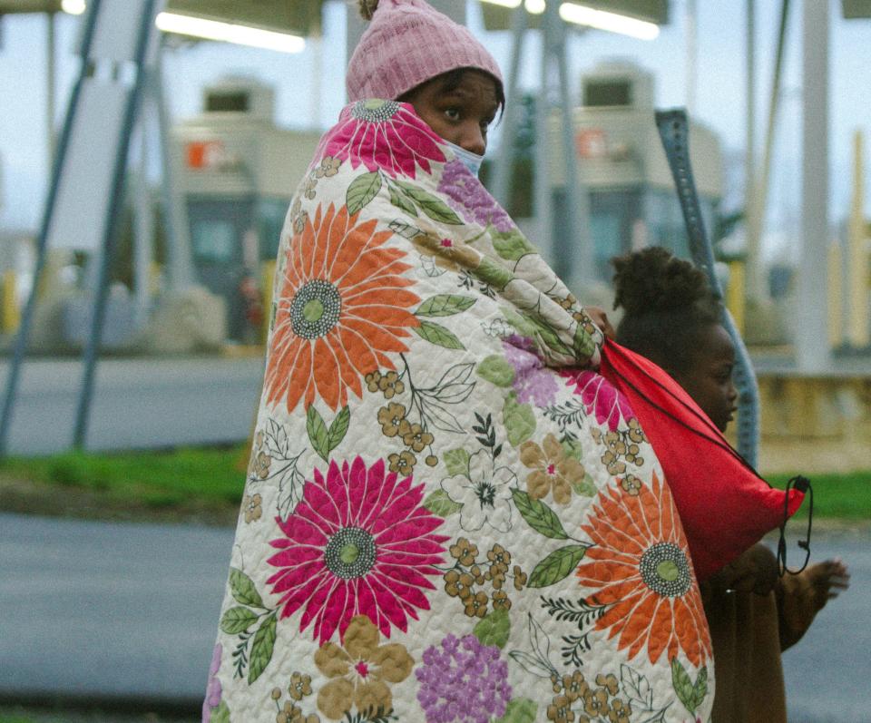
<svg viewBox="0 0 871 723">
<path fill-rule="evenodd" d="M 824 2 L 824 0 L 807 0 Z M 604 60 L 628 59 L 655 76 L 657 107 L 685 105 L 687 88 L 686 12 L 688 0 L 672 0 L 670 24 L 654 41 L 587 31 L 573 34 L 569 46 L 572 92 L 580 76 Z M 695 0 L 697 8 L 696 92 L 690 109 L 696 120 L 719 134 L 734 162 L 743 159 L 746 141 L 745 2 Z M 757 0 L 758 155 L 764 138 L 774 63 L 780 3 Z M 871 131 L 867 93 L 871 88 L 871 20 L 846 21 L 840 2 L 830 2 L 830 212 L 833 222 L 848 209 L 852 178 L 852 143 L 856 130 Z M 329 2 L 324 33 L 301 54 L 280 54 L 228 44 L 184 44 L 164 57 L 165 91 L 171 119 L 200 112 L 201 89 L 227 74 L 253 75 L 276 89 L 277 122 L 294 128 L 325 130 L 344 103 L 345 5 Z M 766 243 L 770 255 L 798 230 L 801 141 L 801 4 L 793 3 L 781 117 L 771 177 Z M 43 212 L 48 183 L 46 122 L 46 19 L 42 15 L 7 15 L 0 25 L 0 230 L 35 230 Z M 57 18 L 56 122 L 62 122 L 77 64 L 74 55 L 80 18 Z M 511 38 L 484 30 L 480 9 L 469 2 L 467 22 L 506 69 Z M 538 38 L 527 44 L 521 84 L 534 90 L 540 52 Z M 499 142 L 499 129 L 492 146 Z M 867 143 L 866 143 L 867 146 Z M 866 152 L 866 165 L 867 165 Z M 729 178 L 739 173 L 730 173 Z M 867 177 L 867 172 L 866 172 Z M 733 188 L 730 198 L 739 198 Z M 871 183 L 866 182 L 866 209 L 871 213 Z"/>
</svg>

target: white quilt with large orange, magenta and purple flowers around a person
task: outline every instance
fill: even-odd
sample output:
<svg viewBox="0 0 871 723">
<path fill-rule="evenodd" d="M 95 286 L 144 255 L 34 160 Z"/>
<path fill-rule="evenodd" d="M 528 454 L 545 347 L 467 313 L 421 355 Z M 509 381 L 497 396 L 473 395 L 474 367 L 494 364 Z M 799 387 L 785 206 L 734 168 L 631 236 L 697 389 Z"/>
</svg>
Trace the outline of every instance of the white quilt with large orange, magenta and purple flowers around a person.
<svg viewBox="0 0 871 723">
<path fill-rule="evenodd" d="M 411 106 L 348 106 L 279 247 L 203 720 L 707 721 L 687 542 L 602 337 Z"/>
</svg>

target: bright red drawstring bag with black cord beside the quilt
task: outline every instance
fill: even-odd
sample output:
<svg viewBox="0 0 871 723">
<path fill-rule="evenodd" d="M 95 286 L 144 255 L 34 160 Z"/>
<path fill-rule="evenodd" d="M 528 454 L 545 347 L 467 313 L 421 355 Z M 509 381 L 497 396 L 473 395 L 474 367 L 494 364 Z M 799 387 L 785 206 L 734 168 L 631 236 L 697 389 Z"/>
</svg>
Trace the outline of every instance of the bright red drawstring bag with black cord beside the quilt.
<svg viewBox="0 0 871 723">
<path fill-rule="evenodd" d="M 659 366 L 607 341 L 599 373 L 625 395 L 662 465 L 705 580 L 783 523 L 786 494 L 758 476 Z M 789 491 L 788 515 L 804 493 Z"/>
</svg>

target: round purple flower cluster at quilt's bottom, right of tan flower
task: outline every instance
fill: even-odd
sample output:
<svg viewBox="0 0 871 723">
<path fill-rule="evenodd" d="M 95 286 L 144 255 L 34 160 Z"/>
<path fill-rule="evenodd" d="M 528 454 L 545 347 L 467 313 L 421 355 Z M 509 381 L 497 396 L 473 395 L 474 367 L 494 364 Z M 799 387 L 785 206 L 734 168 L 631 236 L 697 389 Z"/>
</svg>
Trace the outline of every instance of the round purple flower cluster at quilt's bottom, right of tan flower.
<svg viewBox="0 0 871 723">
<path fill-rule="evenodd" d="M 511 699 L 508 664 L 499 649 L 482 645 L 474 635 L 448 635 L 441 648 L 427 648 L 416 669 L 417 700 L 426 723 L 489 723 L 504 716 Z"/>
</svg>

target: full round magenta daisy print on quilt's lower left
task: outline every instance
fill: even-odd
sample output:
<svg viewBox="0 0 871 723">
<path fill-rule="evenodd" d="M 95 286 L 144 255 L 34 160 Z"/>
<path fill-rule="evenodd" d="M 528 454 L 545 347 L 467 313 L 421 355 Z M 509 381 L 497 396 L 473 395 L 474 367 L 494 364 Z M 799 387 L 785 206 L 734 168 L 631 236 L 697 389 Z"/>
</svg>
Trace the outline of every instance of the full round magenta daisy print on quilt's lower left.
<svg viewBox="0 0 871 723">
<path fill-rule="evenodd" d="M 385 474 L 384 460 L 368 469 L 359 456 L 341 468 L 331 462 L 326 479 L 316 469 L 294 513 L 278 520 L 285 536 L 270 542 L 281 551 L 269 558 L 279 572 L 267 581 L 281 618 L 301 610 L 299 630 L 313 624 L 321 645 L 337 629 L 344 639 L 355 615 L 387 638 L 391 626 L 405 632 L 408 616 L 429 610 L 427 576 L 441 575 L 448 539 L 433 534 L 444 521 L 421 506 L 423 494 L 410 476 Z"/>
</svg>

